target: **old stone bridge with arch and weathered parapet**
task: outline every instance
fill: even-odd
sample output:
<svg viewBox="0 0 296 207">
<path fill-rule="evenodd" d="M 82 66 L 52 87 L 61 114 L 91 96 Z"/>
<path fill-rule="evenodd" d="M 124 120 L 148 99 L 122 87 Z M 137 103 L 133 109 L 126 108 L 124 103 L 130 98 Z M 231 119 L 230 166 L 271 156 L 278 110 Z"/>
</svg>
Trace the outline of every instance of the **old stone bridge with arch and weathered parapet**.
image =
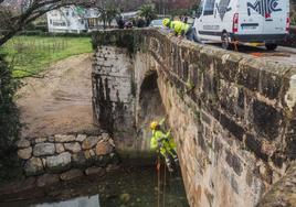
<svg viewBox="0 0 296 207">
<path fill-rule="evenodd" d="M 124 155 L 149 152 L 166 116 L 192 207 L 296 205 L 296 68 L 156 30 L 93 45 L 94 117 Z"/>
</svg>

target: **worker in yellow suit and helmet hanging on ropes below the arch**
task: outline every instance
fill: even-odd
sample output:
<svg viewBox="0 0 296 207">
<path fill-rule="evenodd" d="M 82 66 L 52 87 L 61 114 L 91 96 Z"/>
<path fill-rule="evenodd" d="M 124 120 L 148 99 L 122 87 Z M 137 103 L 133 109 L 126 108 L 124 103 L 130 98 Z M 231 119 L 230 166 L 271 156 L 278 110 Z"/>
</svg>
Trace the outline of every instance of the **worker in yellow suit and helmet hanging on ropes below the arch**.
<svg viewBox="0 0 296 207">
<path fill-rule="evenodd" d="M 176 153 L 176 143 L 170 134 L 170 131 L 167 133 L 161 130 L 161 122 L 154 121 L 150 123 L 150 129 L 152 130 L 152 138 L 150 141 L 150 146 L 152 150 L 157 150 L 165 157 L 166 164 L 169 172 L 173 172 L 171 157 L 176 163 L 179 162 Z"/>
</svg>

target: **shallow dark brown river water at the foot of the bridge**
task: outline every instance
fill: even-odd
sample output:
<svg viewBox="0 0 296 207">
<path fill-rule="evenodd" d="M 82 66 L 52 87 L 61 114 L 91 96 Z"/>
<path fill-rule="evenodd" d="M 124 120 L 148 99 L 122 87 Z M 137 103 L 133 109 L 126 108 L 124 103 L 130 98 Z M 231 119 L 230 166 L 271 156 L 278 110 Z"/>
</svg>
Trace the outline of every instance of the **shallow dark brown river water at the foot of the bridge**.
<svg viewBox="0 0 296 207">
<path fill-rule="evenodd" d="M 104 176 L 89 176 L 23 193 L 0 196 L 1 207 L 188 207 L 180 172 L 155 166 L 123 166 Z M 158 186 L 160 186 L 158 188 Z"/>
</svg>

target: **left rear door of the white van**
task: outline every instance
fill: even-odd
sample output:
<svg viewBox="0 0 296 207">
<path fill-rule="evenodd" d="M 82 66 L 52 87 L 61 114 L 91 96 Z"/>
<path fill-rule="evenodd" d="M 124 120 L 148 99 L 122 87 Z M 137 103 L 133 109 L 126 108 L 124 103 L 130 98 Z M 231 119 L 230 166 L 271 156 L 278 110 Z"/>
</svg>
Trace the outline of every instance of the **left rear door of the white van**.
<svg viewBox="0 0 296 207">
<path fill-rule="evenodd" d="M 264 0 L 237 0 L 239 34 L 262 34 L 264 32 L 264 18 L 257 10 L 260 1 Z"/>
</svg>

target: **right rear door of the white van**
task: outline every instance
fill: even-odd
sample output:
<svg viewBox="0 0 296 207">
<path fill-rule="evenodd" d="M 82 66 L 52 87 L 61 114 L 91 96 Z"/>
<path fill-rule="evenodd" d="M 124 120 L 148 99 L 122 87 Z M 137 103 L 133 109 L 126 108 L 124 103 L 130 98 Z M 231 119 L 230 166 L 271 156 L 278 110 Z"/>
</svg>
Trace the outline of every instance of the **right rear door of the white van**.
<svg viewBox="0 0 296 207">
<path fill-rule="evenodd" d="M 288 0 L 265 0 L 266 6 L 263 9 L 264 33 L 283 34 L 286 33 L 286 23 L 289 12 Z"/>
</svg>

